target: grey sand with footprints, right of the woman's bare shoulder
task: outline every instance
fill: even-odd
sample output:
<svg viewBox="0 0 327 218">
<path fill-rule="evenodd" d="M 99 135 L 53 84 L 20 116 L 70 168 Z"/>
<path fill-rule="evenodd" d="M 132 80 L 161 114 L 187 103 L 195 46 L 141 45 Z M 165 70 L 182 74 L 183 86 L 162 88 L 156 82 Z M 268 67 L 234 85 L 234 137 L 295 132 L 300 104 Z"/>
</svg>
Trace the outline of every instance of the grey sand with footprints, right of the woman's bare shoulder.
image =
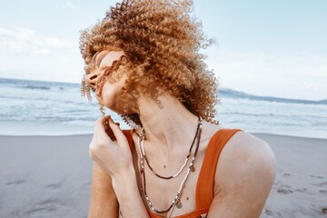
<svg viewBox="0 0 327 218">
<path fill-rule="evenodd" d="M 255 134 L 271 145 L 277 175 L 262 218 L 327 217 L 327 139 Z"/>
</svg>

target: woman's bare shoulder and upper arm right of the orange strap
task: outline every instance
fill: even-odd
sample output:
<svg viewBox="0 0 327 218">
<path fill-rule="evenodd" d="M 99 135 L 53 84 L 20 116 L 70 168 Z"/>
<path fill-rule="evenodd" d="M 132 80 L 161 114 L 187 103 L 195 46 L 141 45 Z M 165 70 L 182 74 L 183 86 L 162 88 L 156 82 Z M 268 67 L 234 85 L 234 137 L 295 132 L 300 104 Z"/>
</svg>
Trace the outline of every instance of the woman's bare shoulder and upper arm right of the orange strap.
<svg viewBox="0 0 327 218">
<path fill-rule="evenodd" d="M 225 145 L 208 217 L 259 217 L 272 189 L 275 158 L 268 144 L 239 132 Z"/>
</svg>

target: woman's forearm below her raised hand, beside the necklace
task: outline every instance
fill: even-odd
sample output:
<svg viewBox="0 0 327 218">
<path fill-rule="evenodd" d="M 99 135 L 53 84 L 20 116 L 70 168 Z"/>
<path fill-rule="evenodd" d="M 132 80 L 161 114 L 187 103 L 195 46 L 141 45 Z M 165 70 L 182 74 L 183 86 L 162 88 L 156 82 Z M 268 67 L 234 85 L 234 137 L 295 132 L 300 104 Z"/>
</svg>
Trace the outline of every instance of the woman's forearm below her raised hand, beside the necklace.
<svg viewBox="0 0 327 218">
<path fill-rule="evenodd" d="M 114 193 L 123 217 L 149 217 L 139 193 L 134 169 L 120 173 L 113 178 Z"/>
</svg>

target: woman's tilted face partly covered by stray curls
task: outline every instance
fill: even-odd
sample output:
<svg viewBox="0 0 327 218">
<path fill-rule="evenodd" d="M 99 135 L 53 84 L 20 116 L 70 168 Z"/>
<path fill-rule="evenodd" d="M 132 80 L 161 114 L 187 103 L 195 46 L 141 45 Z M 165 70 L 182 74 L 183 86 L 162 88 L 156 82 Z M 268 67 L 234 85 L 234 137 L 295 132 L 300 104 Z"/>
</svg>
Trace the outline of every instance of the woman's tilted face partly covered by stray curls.
<svg viewBox="0 0 327 218">
<path fill-rule="evenodd" d="M 123 51 L 107 50 L 95 54 L 93 58 L 95 69 L 94 72 L 86 75 L 86 83 L 94 86 L 99 76 L 104 74 L 104 70 L 111 67 L 114 61 L 119 60 L 122 55 L 124 55 Z M 121 108 L 123 105 L 120 103 L 126 79 L 127 75 L 123 74 L 122 78 L 114 84 L 105 82 L 101 93 L 104 106 L 120 114 L 123 112 L 123 108 Z"/>
</svg>

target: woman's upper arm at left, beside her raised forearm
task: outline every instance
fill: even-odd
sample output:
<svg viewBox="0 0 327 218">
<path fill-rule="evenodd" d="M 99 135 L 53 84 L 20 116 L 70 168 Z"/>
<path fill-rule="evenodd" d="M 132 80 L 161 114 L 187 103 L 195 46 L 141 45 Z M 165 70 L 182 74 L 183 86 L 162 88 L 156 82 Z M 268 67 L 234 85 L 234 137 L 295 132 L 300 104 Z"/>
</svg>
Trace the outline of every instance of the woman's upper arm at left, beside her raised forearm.
<svg viewBox="0 0 327 218">
<path fill-rule="evenodd" d="M 111 177 L 94 163 L 92 173 L 91 202 L 88 218 L 117 218 L 118 201 Z"/>
</svg>

